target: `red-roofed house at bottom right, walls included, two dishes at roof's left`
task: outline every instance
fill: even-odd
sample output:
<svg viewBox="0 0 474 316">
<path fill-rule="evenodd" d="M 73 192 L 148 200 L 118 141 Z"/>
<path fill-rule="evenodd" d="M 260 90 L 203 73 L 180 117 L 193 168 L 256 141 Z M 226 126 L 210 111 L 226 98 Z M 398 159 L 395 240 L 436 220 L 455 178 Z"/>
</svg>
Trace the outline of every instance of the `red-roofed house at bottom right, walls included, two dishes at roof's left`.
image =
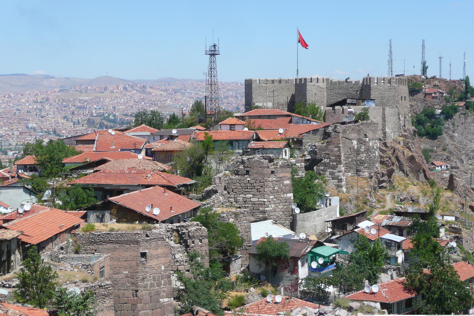
<svg viewBox="0 0 474 316">
<path fill-rule="evenodd" d="M 368 284 L 368 281 L 365 282 L 364 286 L 372 285 Z M 380 303 L 380 309 L 386 309 L 388 314 L 401 315 L 414 310 L 416 301 L 421 299 L 421 295 L 405 288 L 405 278 L 398 278 L 378 284 L 377 292 L 372 289 L 368 293 L 362 290 L 346 295 L 344 298 L 356 302 Z"/>
</svg>

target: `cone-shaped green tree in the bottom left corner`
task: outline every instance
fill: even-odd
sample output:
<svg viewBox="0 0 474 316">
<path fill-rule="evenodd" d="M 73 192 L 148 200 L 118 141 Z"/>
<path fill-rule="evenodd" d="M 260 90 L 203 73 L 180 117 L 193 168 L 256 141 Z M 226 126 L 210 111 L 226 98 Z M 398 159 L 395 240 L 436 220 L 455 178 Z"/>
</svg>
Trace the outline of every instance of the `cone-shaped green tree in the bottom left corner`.
<svg viewBox="0 0 474 316">
<path fill-rule="evenodd" d="M 46 307 L 55 297 L 57 277 L 57 272 L 41 259 L 36 246 L 31 246 L 17 273 L 18 284 L 13 291 L 16 301 L 36 308 Z"/>
</svg>

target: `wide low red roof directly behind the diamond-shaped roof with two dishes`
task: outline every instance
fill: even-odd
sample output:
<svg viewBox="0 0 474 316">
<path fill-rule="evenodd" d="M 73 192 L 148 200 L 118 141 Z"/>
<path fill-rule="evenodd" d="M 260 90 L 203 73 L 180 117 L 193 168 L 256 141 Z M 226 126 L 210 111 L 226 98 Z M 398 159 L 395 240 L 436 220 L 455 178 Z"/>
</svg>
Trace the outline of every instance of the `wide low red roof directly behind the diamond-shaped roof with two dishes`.
<svg viewBox="0 0 474 316">
<path fill-rule="evenodd" d="M 158 186 L 179 186 L 185 183 L 193 183 L 194 181 L 175 174 L 150 171 L 150 170 L 101 170 L 88 174 L 82 178 L 75 179 L 69 184 L 86 184 L 86 185 L 158 185 Z"/>
</svg>

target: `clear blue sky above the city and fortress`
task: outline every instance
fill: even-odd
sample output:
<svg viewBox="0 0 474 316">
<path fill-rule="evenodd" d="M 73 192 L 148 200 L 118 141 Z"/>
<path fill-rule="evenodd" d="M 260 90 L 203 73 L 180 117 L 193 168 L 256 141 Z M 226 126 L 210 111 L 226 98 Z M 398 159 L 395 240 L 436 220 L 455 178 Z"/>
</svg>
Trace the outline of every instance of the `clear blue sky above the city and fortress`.
<svg viewBox="0 0 474 316">
<path fill-rule="evenodd" d="M 420 73 L 426 40 L 428 75 L 474 70 L 471 1 L 4 1 L 0 73 L 56 77 L 203 79 L 205 38 L 219 44 L 220 81 L 296 76 L 362 79 Z M 471 74 L 472 75 L 472 74 Z"/>
</svg>

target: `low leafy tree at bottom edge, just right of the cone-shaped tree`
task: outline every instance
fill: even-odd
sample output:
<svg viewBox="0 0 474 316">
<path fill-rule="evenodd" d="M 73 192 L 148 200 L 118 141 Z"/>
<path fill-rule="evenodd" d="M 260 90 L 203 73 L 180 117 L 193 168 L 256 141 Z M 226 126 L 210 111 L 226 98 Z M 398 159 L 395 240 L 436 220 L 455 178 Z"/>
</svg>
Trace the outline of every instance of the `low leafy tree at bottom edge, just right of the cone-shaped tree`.
<svg viewBox="0 0 474 316">
<path fill-rule="evenodd" d="M 53 306 L 65 316 L 94 316 L 99 312 L 94 292 L 87 291 L 84 295 L 58 287 L 55 292 Z"/>
</svg>

